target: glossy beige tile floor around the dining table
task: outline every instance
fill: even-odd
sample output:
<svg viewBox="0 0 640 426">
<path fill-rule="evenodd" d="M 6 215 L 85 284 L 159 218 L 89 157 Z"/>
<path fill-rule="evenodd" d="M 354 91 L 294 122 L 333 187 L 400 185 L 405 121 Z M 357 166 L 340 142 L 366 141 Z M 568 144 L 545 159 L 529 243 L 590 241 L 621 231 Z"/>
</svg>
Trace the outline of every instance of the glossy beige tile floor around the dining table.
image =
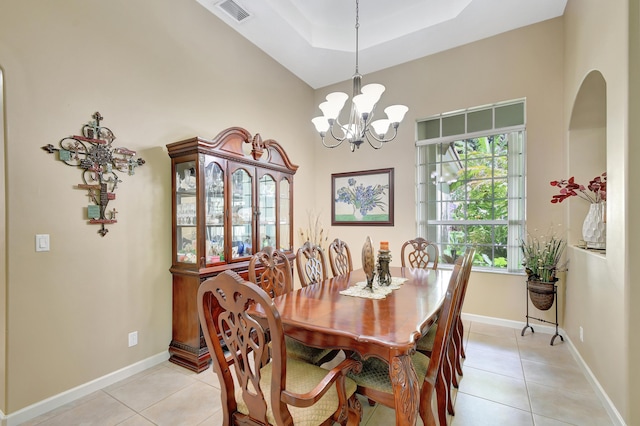
<svg viewBox="0 0 640 426">
<path fill-rule="evenodd" d="M 451 426 L 611 425 L 567 344 L 543 333 L 465 323 L 467 359 Z M 361 424 L 391 425 L 393 410 L 364 408 Z M 220 425 L 219 384 L 170 362 L 94 392 L 24 425 Z M 418 424 L 422 424 L 418 421 Z"/>
</svg>

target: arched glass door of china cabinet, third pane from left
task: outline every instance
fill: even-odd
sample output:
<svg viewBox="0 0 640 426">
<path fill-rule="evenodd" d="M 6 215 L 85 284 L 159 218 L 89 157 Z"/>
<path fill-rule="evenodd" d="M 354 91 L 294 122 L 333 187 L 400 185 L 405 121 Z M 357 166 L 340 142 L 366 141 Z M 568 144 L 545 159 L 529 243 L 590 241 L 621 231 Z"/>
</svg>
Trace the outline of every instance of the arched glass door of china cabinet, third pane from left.
<svg viewBox="0 0 640 426">
<path fill-rule="evenodd" d="M 231 174 L 231 259 L 253 254 L 253 186 L 244 169 Z"/>
</svg>

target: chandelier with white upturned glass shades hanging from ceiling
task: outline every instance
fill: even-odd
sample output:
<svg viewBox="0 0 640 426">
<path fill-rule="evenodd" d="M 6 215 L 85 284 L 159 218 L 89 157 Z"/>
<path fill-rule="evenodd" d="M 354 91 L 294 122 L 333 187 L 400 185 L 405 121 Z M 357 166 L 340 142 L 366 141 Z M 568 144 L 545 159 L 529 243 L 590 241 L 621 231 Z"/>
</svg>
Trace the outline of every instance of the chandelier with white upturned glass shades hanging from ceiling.
<svg viewBox="0 0 640 426">
<path fill-rule="evenodd" d="M 356 72 L 353 74 L 353 99 L 348 123 L 341 123 L 338 119 L 349 96 L 344 92 L 329 93 L 326 101 L 319 105 L 323 115 L 315 117 L 311 122 L 322 138 L 322 144 L 327 148 L 340 146 L 342 142 L 349 142 L 351 152 L 366 140 L 374 149 L 380 149 L 386 142 L 390 142 L 398 134 L 398 126 L 409 110 L 405 105 L 392 105 L 384 109 L 387 118 L 376 121 L 373 116 L 376 104 L 385 87 L 382 84 L 367 84 L 361 87 L 362 75 L 358 72 L 358 29 L 359 1 L 356 0 Z M 390 130 L 391 129 L 391 130 Z M 325 142 L 327 133 L 331 134 L 334 142 Z"/>
</svg>

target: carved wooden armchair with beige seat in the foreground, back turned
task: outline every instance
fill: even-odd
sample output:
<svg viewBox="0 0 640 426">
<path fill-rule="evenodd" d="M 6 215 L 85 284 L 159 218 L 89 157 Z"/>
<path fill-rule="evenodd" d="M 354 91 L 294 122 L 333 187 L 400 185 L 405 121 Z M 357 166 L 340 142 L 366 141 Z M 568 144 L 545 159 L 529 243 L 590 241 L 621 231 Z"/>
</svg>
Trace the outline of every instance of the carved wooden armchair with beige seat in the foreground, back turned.
<svg viewBox="0 0 640 426">
<path fill-rule="evenodd" d="M 358 361 L 325 370 L 288 357 L 280 315 L 256 284 L 222 272 L 203 281 L 197 305 L 220 380 L 223 424 L 359 424 L 362 406 L 346 376 L 358 371 Z M 247 312 L 257 307 L 264 311 L 260 320 Z"/>
</svg>

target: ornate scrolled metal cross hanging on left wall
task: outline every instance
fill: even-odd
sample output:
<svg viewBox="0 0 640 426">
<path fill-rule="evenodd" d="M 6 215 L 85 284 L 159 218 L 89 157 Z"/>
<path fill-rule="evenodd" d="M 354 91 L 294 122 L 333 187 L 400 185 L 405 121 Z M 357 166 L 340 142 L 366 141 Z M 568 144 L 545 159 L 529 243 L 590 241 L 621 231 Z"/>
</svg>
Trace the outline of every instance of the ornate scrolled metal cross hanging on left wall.
<svg viewBox="0 0 640 426">
<path fill-rule="evenodd" d="M 109 232 L 105 225 L 117 222 L 118 211 L 115 208 L 107 210 L 109 201 L 116 198 L 118 183 L 122 182 L 116 171 L 127 172 L 131 176 L 135 168 L 142 166 L 145 161 L 142 158 L 135 159 L 135 151 L 112 147 L 116 137 L 109 128 L 100 126 L 102 115 L 96 112 L 92 117 L 93 121 L 82 126 L 82 136 L 63 138 L 59 143 L 60 148 L 48 144 L 42 149 L 49 154 L 58 151 L 60 161 L 83 170 L 83 183 L 76 188 L 87 190 L 89 201 L 93 203 L 87 206 L 89 223 L 99 224 L 98 233 L 104 237 Z"/>
</svg>

